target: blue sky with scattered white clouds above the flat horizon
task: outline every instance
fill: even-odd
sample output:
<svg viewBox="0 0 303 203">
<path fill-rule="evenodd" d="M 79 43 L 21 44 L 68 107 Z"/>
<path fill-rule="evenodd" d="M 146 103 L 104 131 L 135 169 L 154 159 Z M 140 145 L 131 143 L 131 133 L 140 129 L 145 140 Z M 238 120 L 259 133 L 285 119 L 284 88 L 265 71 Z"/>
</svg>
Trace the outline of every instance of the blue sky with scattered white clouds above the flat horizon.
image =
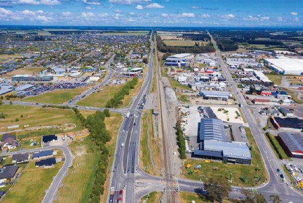
<svg viewBox="0 0 303 203">
<path fill-rule="evenodd" d="M 0 0 L 0 24 L 303 27 L 303 0 Z"/>
</svg>

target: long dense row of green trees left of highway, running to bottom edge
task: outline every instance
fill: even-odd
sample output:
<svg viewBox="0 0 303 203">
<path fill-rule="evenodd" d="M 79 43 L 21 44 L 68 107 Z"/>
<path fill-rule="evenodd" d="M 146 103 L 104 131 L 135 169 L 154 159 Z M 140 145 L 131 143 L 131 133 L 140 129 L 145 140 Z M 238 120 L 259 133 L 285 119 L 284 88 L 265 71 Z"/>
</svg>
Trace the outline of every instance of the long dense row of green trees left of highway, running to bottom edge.
<svg viewBox="0 0 303 203">
<path fill-rule="evenodd" d="M 81 121 L 82 125 L 86 126 L 90 132 L 90 139 L 95 144 L 95 154 L 97 155 L 97 166 L 94 166 L 94 179 L 92 188 L 90 190 L 90 201 L 94 203 L 100 202 L 100 196 L 104 193 L 104 183 L 107 178 L 107 166 L 109 150 L 106 146 L 106 142 L 111 140 L 111 136 L 106 130 L 104 119 L 110 117 L 109 110 L 106 109 L 103 112 L 97 111 L 93 115 L 89 115 L 85 119 L 77 108 L 73 108 L 76 117 Z"/>
</svg>

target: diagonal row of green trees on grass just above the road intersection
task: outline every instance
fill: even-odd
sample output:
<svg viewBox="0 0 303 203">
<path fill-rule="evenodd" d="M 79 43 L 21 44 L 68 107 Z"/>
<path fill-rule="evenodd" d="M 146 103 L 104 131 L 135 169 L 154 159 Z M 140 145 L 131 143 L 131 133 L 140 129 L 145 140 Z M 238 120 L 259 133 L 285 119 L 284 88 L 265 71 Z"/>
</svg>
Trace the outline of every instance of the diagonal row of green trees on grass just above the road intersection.
<svg viewBox="0 0 303 203">
<path fill-rule="evenodd" d="M 106 108 L 116 108 L 123 105 L 122 99 L 124 98 L 124 95 L 128 95 L 129 90 L 133 89 L 137 82 L 138 78 L 136 77 L 127 82 L 120 91 L 115 93 L 114 98 L 109 99 L 109 101 L 106 103 Z"/>
</svg>

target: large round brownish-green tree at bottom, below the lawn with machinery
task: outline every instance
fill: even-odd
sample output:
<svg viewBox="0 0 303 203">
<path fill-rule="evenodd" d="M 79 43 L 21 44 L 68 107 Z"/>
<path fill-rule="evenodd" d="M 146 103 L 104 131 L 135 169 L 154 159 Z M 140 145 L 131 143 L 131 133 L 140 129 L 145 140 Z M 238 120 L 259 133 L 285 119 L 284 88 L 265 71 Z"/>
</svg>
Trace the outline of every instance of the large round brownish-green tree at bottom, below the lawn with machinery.
<svg viewBox="0 0 303 203">
<path fill-rule="evenodd" d="M 211 177 L 204 183 L 204 189 L 208 192 L 208 196 L 213 201 L 222 202 L 225 197 L 228 197 L 228 193 L 231 191 L 231 186 L 228 180 L 223 177 Z"/>
</svg>

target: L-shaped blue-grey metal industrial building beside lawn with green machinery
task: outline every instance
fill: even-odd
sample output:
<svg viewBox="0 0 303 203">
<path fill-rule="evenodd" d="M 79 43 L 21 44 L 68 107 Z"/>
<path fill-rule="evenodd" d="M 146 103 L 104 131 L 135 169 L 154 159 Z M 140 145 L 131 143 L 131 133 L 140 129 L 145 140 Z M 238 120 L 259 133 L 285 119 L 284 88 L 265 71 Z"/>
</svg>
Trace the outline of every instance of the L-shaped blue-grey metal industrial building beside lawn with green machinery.
<svg viewBox="0 0 303 203">
<path fill-rule="evenodd" d="M 194 156 L 229 163 L 251 164 L 252 156 L 245 142 L 227 141 L 222 120 L 202 118 L 199 132 L 200 148 Z"/>
</svg>

